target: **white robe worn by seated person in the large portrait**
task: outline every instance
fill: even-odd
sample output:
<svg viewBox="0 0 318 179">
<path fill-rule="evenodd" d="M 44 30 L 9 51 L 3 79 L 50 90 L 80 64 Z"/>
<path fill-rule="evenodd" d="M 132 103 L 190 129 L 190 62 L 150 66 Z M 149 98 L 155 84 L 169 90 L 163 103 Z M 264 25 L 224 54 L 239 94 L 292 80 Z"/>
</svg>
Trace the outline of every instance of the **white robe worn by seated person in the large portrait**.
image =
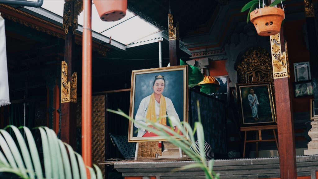
<svg viewBox="0 0 318 179">
<path fill-rule="evenodd" d="M 135 116 L 135 120 L 143 123 L 144 125 L 147 125 L 145 118 L 147 115 L 150 96 L 151 95 L 149 95 L 141 100 L 141 102 L 139 104 L 138 111 L 137 111 L 136 116 Z M 174 108 L 174 106 L 172 104 L 171 99 L 169 99 L 168 97 L 164 97 L 164 99 L 166 100 L 166 111 L 167 111 L 168 117 L 174 117 L 174 118 L 176 118 L 176 121 L 180 122 L 179 116 L 176 112 L 176 109 Z M 160 103 L 158 103 L 155 100 L 156 118 L 159 118 L 159 109 L 160 109 Z M 159 121 L 157 121 L 157 122 L 159 122 Z M 135 125 L 135 127 L 138 128 L 137 137 L 142 137 L 142 135 L 146 133 L 146 129 L 144 127 L 136 124 L 136 123 L 134 125 Z M 168 125 L 168 120 L 167 120 L 167 125 Z M 176 124 L 174 122 L 172 122 L 172 126 L 174 127 L 174 126 L 176 126 Z"/>
</svg>

